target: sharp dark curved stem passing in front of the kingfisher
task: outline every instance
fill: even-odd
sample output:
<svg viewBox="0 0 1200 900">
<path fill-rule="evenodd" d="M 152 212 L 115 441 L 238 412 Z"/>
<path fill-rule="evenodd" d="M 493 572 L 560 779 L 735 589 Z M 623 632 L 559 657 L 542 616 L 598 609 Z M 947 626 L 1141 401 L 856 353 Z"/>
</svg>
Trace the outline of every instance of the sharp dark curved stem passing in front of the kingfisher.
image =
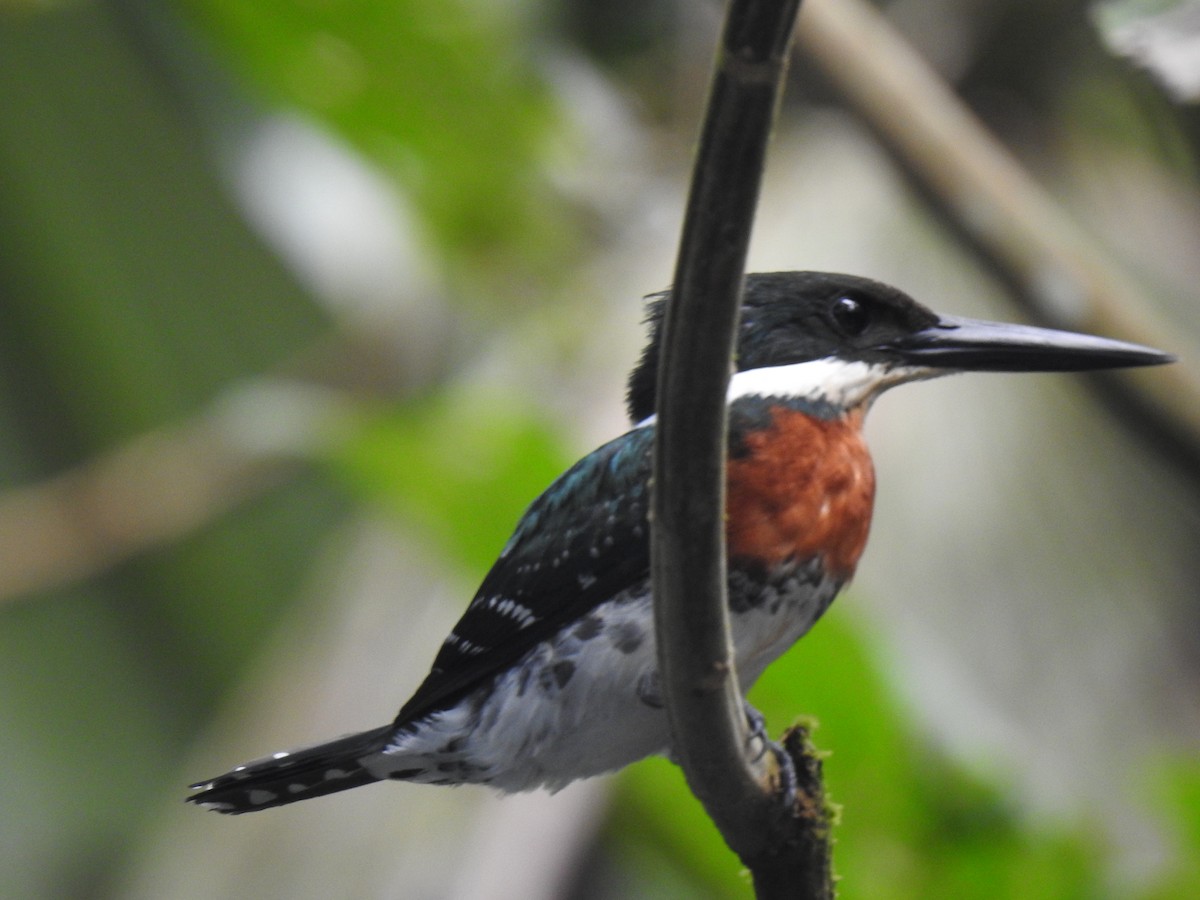
<svg viewBox="0 0 1200 900">
<path fill-rule="evenodd" d="M 655 628 L 672 749 L 758 896 L 826 895 L 803 893 L 808 860 L 792 852 L 791 830 L 800 820 L 750 755 L 725 599 L 725 392 L 798 7 L 733 0 L 728 8 L 667 308 L 654 460 Z"/>
</svg>

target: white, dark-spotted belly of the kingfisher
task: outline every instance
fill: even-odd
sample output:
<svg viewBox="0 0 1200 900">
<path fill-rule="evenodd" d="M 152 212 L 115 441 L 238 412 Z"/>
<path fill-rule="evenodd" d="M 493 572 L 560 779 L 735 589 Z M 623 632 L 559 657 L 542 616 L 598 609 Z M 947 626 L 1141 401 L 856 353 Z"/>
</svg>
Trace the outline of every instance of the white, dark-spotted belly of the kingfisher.
<svg viewBox="0 0 1200 900">
<path fill-rule="evenodd" d="M 734 604 L 743 690 L 808 631 L 840 587 L 786 571 L 770 582 L 760 602 Z M 494 683 L 400 734 L 367 768 L 384 778 L 554 791 L 667 752 L 652 623 L 644 587 L 602 604 Z"/>
</svg>

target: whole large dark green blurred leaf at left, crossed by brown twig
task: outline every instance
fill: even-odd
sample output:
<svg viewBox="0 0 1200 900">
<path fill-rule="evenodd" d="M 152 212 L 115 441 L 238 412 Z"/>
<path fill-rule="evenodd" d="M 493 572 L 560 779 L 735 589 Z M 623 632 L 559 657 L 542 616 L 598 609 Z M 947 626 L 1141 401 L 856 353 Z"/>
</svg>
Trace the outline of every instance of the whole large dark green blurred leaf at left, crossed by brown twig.
<svg viewBox="0 0 1200 900">
<path fill-rule="evenodd" d="M 4 487 L 176 422 L 326 328 L 112 10 L 26 6 L 0 10 Z M 103 552 L 94 524 L 113 510 L 88 497 L 91 515 L 66 527 Z M 0 896 L 104 893 L 337 504 L 311 481 L 286 487 L 94 582 L 4 607 Z"/>
</svg>

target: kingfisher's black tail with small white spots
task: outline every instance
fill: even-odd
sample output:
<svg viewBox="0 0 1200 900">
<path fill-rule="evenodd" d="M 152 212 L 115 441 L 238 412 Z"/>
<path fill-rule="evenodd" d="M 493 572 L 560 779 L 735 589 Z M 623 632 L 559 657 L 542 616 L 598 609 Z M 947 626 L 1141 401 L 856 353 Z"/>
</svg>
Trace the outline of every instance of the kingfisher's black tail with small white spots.
<svg viewBox="0 0 1200 900">
<path fill-rule="evenodd" d="M 383 750 L 391 733 L 392 726 L 385 725 L 325 744 L 275 754 L 239 766 L 211 781 L 192 785 L 199 793 L 187 800 L 217 812 L 239 815 L 368 785 L 379 779 L 359 761 Z"/>
</svg>

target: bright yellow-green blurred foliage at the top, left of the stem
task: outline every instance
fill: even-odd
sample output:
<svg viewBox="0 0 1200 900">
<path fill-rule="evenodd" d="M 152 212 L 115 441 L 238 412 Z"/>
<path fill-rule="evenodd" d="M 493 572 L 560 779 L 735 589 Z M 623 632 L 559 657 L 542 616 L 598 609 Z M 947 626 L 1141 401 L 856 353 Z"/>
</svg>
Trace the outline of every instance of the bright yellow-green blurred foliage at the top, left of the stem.
<svg viewBox="0 0 1200 900">
<path fill-rule="evenodd" d="M 562 262 L 554 108 L 529 23 L 486 0 L 188 0 L 232 68 L 397 176 L 432 248 L 518 274 Z M 493 286 L 494 287 L 494 286 Z"/>
</svg>

